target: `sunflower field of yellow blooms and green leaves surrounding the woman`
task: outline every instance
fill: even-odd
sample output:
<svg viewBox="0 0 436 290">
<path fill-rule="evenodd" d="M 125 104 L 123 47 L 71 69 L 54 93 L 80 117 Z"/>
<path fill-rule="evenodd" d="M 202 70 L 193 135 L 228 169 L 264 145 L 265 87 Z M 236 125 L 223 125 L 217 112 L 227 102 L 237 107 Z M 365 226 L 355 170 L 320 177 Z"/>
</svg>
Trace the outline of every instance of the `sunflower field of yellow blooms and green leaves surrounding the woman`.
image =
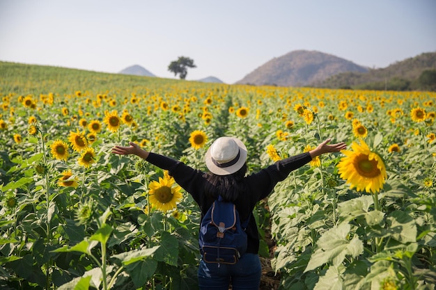
<svg viewBox="0 0 436 290">
<path fill-rule="evenodd" d="M 200 215 L 138 143 L 249 172 L 345 142 L 254 216 L 279 289 L 435 289 L 435 92 L 236 86 L 0 63 L 0 288 L 197 289 Z M 274 248 L 264 241 L 270 234 Z"/>
</svg>

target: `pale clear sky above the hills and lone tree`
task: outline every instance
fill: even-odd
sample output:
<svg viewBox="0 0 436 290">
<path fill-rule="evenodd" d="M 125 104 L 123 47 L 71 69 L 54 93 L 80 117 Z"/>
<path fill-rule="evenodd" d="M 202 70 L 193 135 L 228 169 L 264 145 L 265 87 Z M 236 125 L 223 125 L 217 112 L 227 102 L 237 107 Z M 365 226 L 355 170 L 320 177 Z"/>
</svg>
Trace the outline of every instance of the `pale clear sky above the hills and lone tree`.
<svg viewBox="0 0 436 290">
<path fill-rule="evenodd" d="M 367 67 L 436 51 L 436 0 L 0 0 L 0 61 L 235 83 L 299 49 Z"/>
</svg>

